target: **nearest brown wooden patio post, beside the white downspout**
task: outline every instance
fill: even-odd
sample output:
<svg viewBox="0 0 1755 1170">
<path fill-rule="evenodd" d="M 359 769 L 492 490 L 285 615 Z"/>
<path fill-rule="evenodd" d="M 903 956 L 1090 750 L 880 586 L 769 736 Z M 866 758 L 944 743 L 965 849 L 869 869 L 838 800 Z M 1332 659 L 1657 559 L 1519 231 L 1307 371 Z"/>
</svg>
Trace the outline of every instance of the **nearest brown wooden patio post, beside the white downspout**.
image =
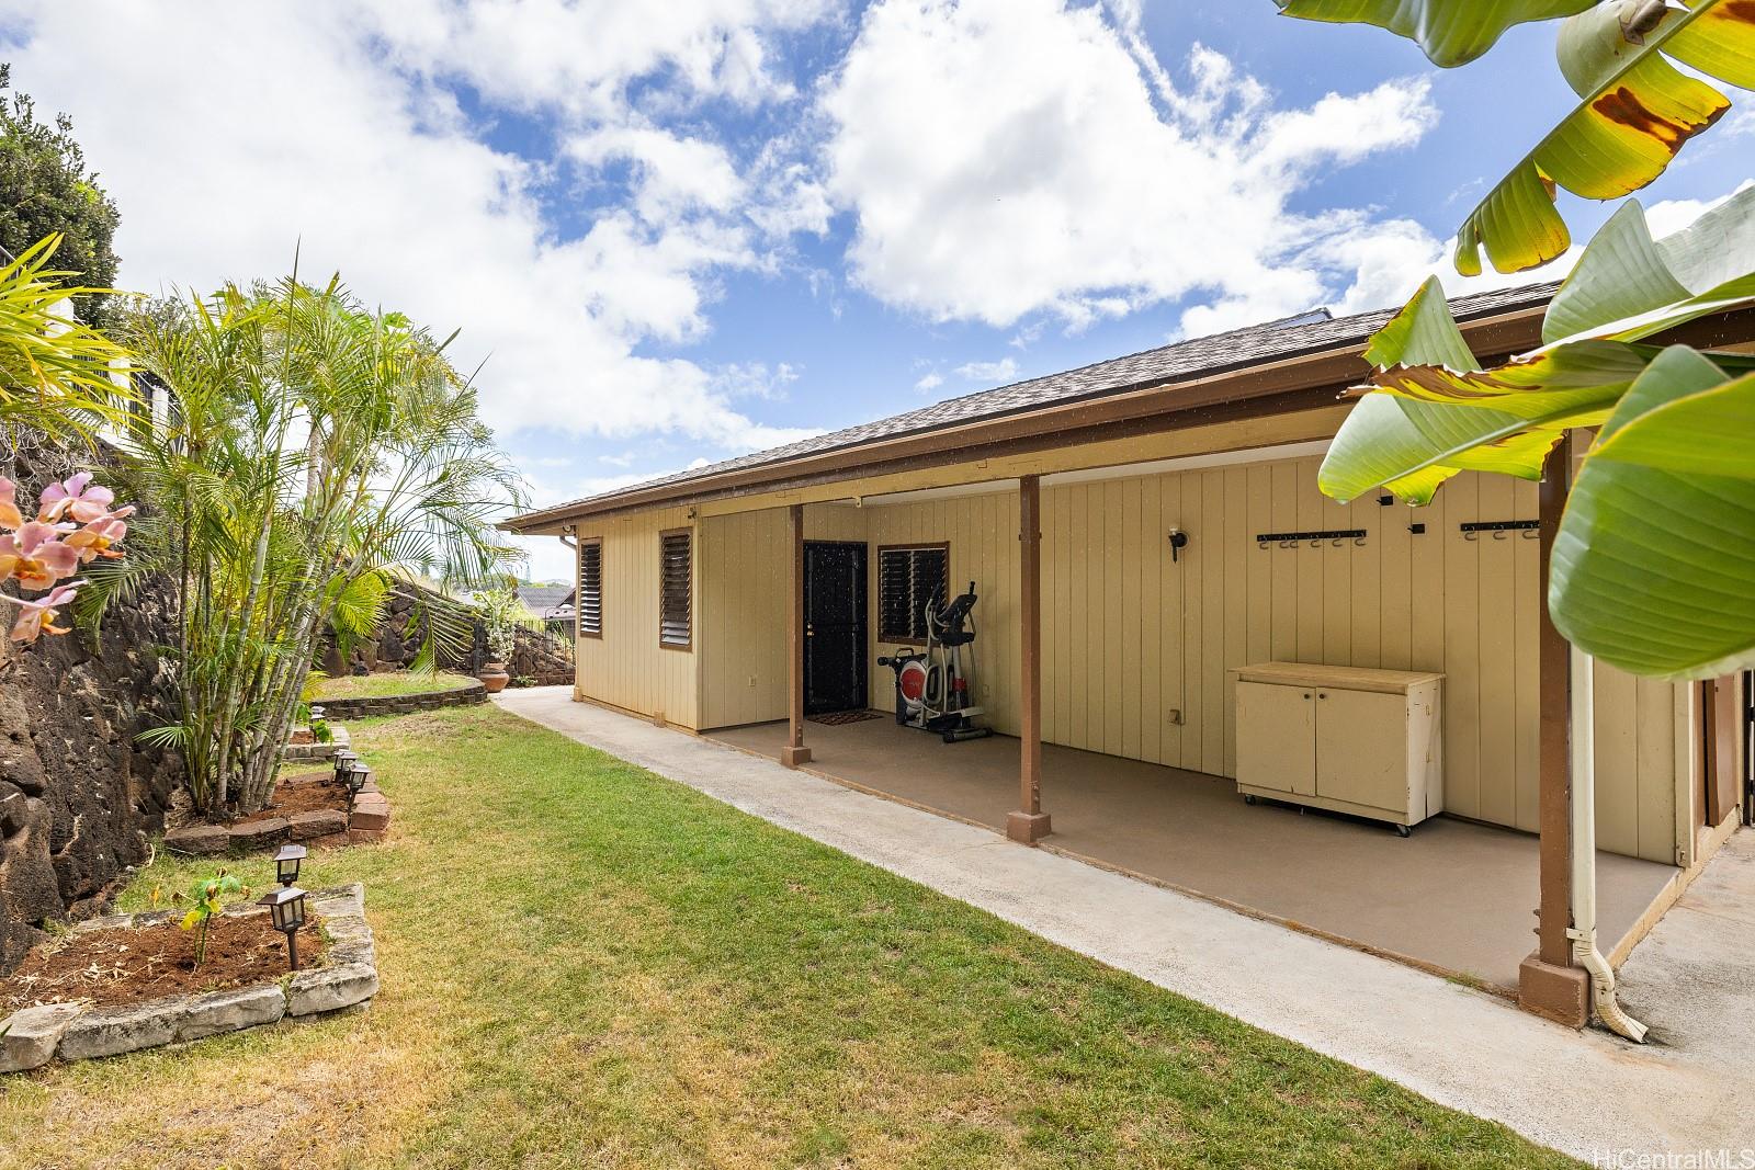
<svg viewBox="0 0 1755 1170">
<path fill-rule="evenodd" d="M 1560 514 L 1572 486 L 1572 437 L 1548 453 L 1541 479 L 1541 770 L 1536 798 L 1539 905 L 1536 951 L 1518 968 L 1518 1003 L 1537 1016 L 1583 1028 L 1590 1021 L 1590 975 L 1572 965 L 1572 661 L 1548 617 L 1548 572 Z"/>
</svg>

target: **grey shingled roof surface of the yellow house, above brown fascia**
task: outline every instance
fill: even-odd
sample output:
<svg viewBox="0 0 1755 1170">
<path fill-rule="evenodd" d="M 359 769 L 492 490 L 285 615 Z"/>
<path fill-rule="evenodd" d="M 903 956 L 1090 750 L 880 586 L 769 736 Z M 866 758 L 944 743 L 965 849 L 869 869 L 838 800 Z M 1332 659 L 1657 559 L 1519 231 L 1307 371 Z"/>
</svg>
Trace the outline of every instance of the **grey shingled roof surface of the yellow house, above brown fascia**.
<svg viewBox="0 0 1755 1170">
<path fill-rule="evenodd" d="M 1458 321 L 1490 317 L 1544 305 L 1553 296 L 1557 288 L 1557 282 L 1550 282 L 1527 284 L 1522 288 L 1497 289 L 1490 293 L 1474 293 L 1471 296 L 1453 298 L 1450 302 L 1450 309 Z M 562 517 L 570 510 L 593 510 L 595 505 L 649 493 L 655 488 L 711 481 L 727 472 L 756 468 L 770 463 L 781 465 L 800 456 L 860 447 L 863 444 L 886 439 L 1004 417 L 1007 414 L 1020 414 L 1051 405 L 1086 402 L 1130 389 L 1211 377 L 1216 374 L 1264 365 L 1267 361 L 1314 354 L 1337 347 L 1362 347 L 1365 339 L 1378 332 L 1392 316 L 1395 316 L 1395 309 L 1383 309 L 1348 317 L 1332 317 L 1327 309 L 1316 309 L 1290 317 L 1279 317 L 1278 321 L 1265 321 L 1262 325 L 1228 330 L 1225 333 L 1172 342 L 1157 349 L 1127 354 L 1125 358 L 1111 358 L 1107 361 L 1097 361 L 1095 365 L 1064 370 L 1046 377 L 1034 377 L 1023 382 L 1013 382 L 1011 386 L 1000 386 L 997 389 L 963 395 L 960 398 L 946 398 L 944 402 L 935 402 L 930 407 L 893 414 L 874 423 L 862 423 L 858 426 L 848 426 L 825 435 L 813 435 L 811 439 L 800 439 L 799 442 L 781 447 L 755 451 L 734 460 L 723 460 L 720 463 L 695 467 L 674 475 L 663 475 L 639 484 L 630 484 L 627 488 L 618 488 L 616 491 L 570 500 L 567 503 L 558 503 L 555 507 L 512 517 L 505 523 L 505 526 L 514 530 L 535 526 L 537 523 Z"/>
</svg>

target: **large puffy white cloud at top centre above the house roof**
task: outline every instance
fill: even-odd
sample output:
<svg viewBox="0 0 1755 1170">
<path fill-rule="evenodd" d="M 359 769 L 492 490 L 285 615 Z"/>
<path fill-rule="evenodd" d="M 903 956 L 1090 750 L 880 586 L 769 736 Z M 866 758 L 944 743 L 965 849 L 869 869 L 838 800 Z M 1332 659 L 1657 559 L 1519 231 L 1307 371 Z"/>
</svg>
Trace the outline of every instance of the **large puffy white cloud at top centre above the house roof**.
<svg viewBox="0 0 1755 1170">
<path fill-rule="evenodd" d="M 856 218 L 855 279 L 934 319 L 1072 328 L 1209 293 L 1255 319 L 1320 303 L 1292 214 L 1313 175 L 1406 147 L 1427 82 L 1276 111 L 1211 49 L 1178 89 L 1137 5 L 881 0 L 821 98 L 828 189 Z M 1362 218 L 1362 212 L 1337 212 Z M 1369 218 L 1367 218 L 1369 219 Z"/>
</svg>

